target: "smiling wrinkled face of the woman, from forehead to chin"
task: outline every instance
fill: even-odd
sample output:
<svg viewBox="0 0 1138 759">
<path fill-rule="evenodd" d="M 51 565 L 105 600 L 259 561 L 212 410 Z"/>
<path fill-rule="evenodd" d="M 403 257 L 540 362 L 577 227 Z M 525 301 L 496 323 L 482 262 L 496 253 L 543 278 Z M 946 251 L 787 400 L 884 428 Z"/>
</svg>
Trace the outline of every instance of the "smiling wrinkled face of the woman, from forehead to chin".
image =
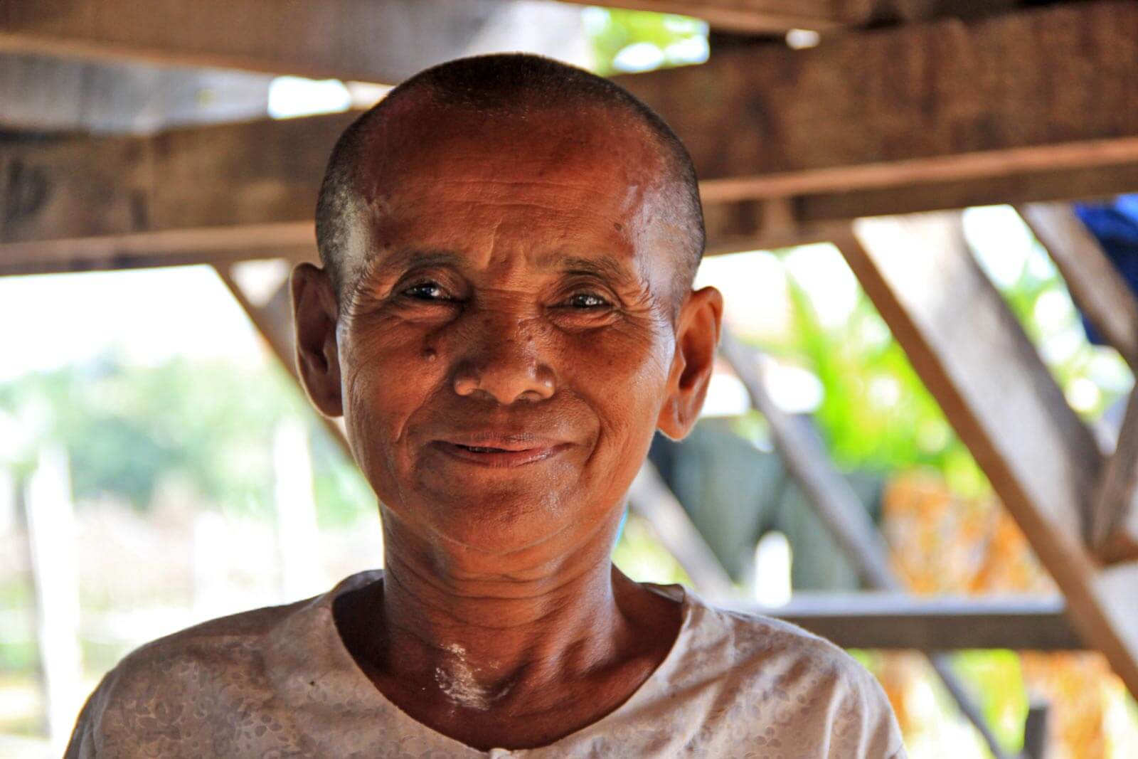
<svg viewBox="0 0 1138 759">
<path fill-rule="evenodd" d="M 385 127 L 337 343 L 388 517 L 506 553 L 622 505 L 683 370 L 660 159 L 603 112 Z M 409 123 L 405 119 L 403 123 Z"/>
</svg>

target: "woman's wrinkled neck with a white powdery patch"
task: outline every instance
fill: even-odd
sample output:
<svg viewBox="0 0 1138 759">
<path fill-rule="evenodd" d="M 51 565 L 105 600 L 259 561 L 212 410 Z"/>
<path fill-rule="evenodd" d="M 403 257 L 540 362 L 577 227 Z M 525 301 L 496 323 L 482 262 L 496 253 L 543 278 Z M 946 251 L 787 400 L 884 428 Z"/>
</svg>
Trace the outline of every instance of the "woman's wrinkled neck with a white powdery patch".
<svg viewBox="0 0 1138 759">
<path fill-rule="evenodd" d="M 621 599 L 634 584 L 609 559 L 619 512 L 583 538 L 504 554 L 439 546 L 384 517 L 377 632 L 390 676 L 488 710 L 610 662 L 627 640 Z"/>
</svg>

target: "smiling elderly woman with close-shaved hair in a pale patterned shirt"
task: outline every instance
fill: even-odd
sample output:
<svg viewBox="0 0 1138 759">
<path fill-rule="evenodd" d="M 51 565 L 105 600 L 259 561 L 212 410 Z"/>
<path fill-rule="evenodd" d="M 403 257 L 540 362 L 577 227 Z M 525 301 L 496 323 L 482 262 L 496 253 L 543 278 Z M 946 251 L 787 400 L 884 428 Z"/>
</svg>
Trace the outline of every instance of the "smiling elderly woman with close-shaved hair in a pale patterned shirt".
<svg viewBox="0 0 1138 759">
<path fill-rule="evenodd" d="M 348 127 L 316 221 L 297 363 L 386 567 L 138 649 L 67 756 L 905 756 L 836 646 L 610 561 L 723 310 L 692 290 L 695 174 L 655 114 L 544 58 L 451 61 Z"/>
</svg>

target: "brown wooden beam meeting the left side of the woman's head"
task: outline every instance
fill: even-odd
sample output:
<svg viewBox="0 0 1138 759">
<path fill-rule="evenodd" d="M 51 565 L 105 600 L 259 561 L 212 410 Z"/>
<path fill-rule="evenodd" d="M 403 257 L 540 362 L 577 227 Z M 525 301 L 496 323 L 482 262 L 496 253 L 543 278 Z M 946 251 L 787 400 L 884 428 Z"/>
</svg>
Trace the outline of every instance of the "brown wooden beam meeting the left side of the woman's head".
<svg viewBox="0 0 1138 759">
<path fill-rule="evenodd" d="M 0 242 L 311 223 L 332 145 L 357 116 L 0 143 Z"/>
</svg>

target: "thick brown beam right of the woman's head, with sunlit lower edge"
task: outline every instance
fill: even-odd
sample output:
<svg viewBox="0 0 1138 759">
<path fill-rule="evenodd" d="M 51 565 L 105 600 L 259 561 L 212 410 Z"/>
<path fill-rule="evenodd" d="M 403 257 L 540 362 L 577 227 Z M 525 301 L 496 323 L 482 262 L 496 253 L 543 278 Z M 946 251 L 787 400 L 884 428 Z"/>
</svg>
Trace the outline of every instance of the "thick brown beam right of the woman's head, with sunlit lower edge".
<svg viewBox="0 0 1138 759">
<path fill-rule="evenodd" d="M 718 199 L 739 199 L 1042 171 L 1063 146 L 1072 164 L 1136 164 L 1138 108 L 1119 107 L 1138 102 L 1136 68 L 1138 5 L 1097 0 L 616 81 L 668 121 Z"/>
</svg>

